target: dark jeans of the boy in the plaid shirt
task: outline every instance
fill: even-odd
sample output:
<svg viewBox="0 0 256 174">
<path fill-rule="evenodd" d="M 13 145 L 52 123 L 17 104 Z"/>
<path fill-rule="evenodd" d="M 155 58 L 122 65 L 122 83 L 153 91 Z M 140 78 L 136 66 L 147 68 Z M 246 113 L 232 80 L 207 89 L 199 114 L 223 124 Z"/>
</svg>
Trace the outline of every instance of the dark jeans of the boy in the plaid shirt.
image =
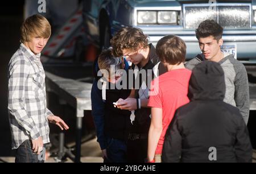
<svg viewBox="0 0 256 174">
<path fill-rule="evenodd" d="M 25 140 L 16 150 L 15 163 L 44 163 L 42 157 L 45 154 L 42 153 L 45 153 L 45 151 L 42 151 L 40 155 L 36 155 L 32 151 L 31 140 Z"/>
</svg>

